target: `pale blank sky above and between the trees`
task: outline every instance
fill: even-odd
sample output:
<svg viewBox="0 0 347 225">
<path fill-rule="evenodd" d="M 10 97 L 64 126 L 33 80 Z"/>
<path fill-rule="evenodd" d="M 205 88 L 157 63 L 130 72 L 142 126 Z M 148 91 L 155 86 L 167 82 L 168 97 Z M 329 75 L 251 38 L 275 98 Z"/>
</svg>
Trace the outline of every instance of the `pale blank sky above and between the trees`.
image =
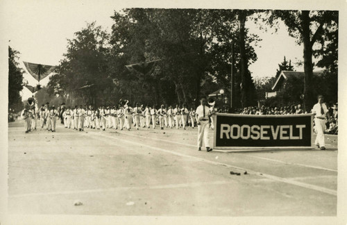
<svg viewBox="0 0 347 225">
<path fill-rule="evenodd" d="M 96 25 L 111 31 L 113 22 L 110 16 L 115 10 L 141 6 L 115 2 L 117 4 L 112 5 L 110 1 L 5 1 L 1 7 L 6 8 L 2 15 L 6 22 L 1 26 L 6 28 L 10 47 L 21 53 L 19 63 L 23 69 L 22 61 L 58 65 L 67 50 L 67 39 L 74 38 L 74 33 L 85 27 L 87 22 L 96 21 Z M 261 31 L 251 21 L 246 22 L 246 28 L 262 39 L 255 47 L 257 61 L 249 67 L 254 78 L 275 76 L 284 56 L 292 61 L 296 71 L 303 71 L 302 67 L 295 65 L 303 58 L 303 47 L 289 37 L 284 24 L 280 24 L 277 33 L 273 33 L 273 30 Z M 24 79 L 29 85 L 37 85 L 28 72 L 24 74 Z M 48 81 L 49 77 L 46 77 L 40 84 L 46 85 Z M 21 94 L 23 99 L 31 96 L 26 88 Z"/>
</svg>

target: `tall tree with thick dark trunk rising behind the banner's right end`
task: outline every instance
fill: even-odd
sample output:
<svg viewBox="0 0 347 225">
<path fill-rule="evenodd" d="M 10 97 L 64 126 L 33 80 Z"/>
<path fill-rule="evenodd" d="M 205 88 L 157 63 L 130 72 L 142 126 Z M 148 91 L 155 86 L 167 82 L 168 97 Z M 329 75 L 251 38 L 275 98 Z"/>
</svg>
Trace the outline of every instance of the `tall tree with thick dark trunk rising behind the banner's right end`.
<svg viewBox="0 0 347 225">
<path fill-rule="evenodd" d="M 313 64 L 312 56 L 314 51 L 312 47 L 319 40 L 323 42 L 325 38 L 330 37 L 331 32 L 335 32 L 338 26 L 337 11 L 319 11 L 319 10 L 273 10 L 269 11 L 269 24 L 281 19 L 285 22 L 289 35 L 296 38 L 298 44 L 303 44 L 303 61 L 305 71 L 304 81 L 304 103 L 306 110 L 312 108 L 315 101 L 313 92 Z M 334 47 L 331 44 L 330 47 Z M 335 48 L 335 47 L 334 47 Z M 316 53 L 319 53 L 317 51 Z M 336 55 L 337 56 L 337 55 Z M 335 56 L 334 56 L 335 57 Z M 324 65 L 321 61 L 321 65 Z"/>
</svg>

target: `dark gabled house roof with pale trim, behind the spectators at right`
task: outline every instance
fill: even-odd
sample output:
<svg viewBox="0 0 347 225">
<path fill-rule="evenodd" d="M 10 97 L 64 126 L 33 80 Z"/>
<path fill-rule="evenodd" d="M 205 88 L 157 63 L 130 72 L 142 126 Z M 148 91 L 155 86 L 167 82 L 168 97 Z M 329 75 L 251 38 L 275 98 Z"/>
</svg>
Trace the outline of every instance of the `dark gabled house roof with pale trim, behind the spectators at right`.
<svg viewBox="0 0 347 225">
<path fill-rule="evenodd" d="M 313 76 L 319 76 L 321 74 L 323 74 L 323 71 L 313 72 Z M 278 76 L 275 84 L 271 88 L 272 92 L 266 92 L 265 98 L 269 99 L 271 97 L 276 97 L 280 92 L 283 92 L 285 88 L 285 84 L 287 83 L 288 79 L 291 77 L 298 78 L 299 80 L 302 80 L 304 83 L 305 72 L 282 71 L 280 73 L 280 76 Z"/>
</svg>

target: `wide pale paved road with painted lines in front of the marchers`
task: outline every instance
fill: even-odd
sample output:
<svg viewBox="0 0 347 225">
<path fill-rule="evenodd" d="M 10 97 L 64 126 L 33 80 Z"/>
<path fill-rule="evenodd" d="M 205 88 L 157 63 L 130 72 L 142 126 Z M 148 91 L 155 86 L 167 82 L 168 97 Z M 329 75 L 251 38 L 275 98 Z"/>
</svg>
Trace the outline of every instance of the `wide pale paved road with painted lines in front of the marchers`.
<svg viewBox="0 0 347 225">
<path fill-rule="evenodd" d="M 326 151 L 230 153 L 197 151 L 196 133 L 80 132 L 57 123 L 56 133 L 26 134 L 12 122 L 8 213 L 336 216 L 337 136 L 325 136 Z"/>
</svg>

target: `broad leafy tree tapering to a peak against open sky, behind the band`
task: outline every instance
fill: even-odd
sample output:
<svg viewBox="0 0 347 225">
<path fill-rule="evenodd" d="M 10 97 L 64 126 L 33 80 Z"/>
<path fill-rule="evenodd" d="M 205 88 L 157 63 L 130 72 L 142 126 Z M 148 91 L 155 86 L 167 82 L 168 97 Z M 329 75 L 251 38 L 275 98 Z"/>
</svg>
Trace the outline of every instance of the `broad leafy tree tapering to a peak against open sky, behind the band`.
<svg viewBox="0 0 347 225">
<path fill-rule="evenodd" d="M 67 53 L 50 77 L 48 92 L 78 99 L 76 104 L 115 103 L 114 84 L 109 77 L 108 33 L 95 22 L 68 40 Z"/>
</svg>

